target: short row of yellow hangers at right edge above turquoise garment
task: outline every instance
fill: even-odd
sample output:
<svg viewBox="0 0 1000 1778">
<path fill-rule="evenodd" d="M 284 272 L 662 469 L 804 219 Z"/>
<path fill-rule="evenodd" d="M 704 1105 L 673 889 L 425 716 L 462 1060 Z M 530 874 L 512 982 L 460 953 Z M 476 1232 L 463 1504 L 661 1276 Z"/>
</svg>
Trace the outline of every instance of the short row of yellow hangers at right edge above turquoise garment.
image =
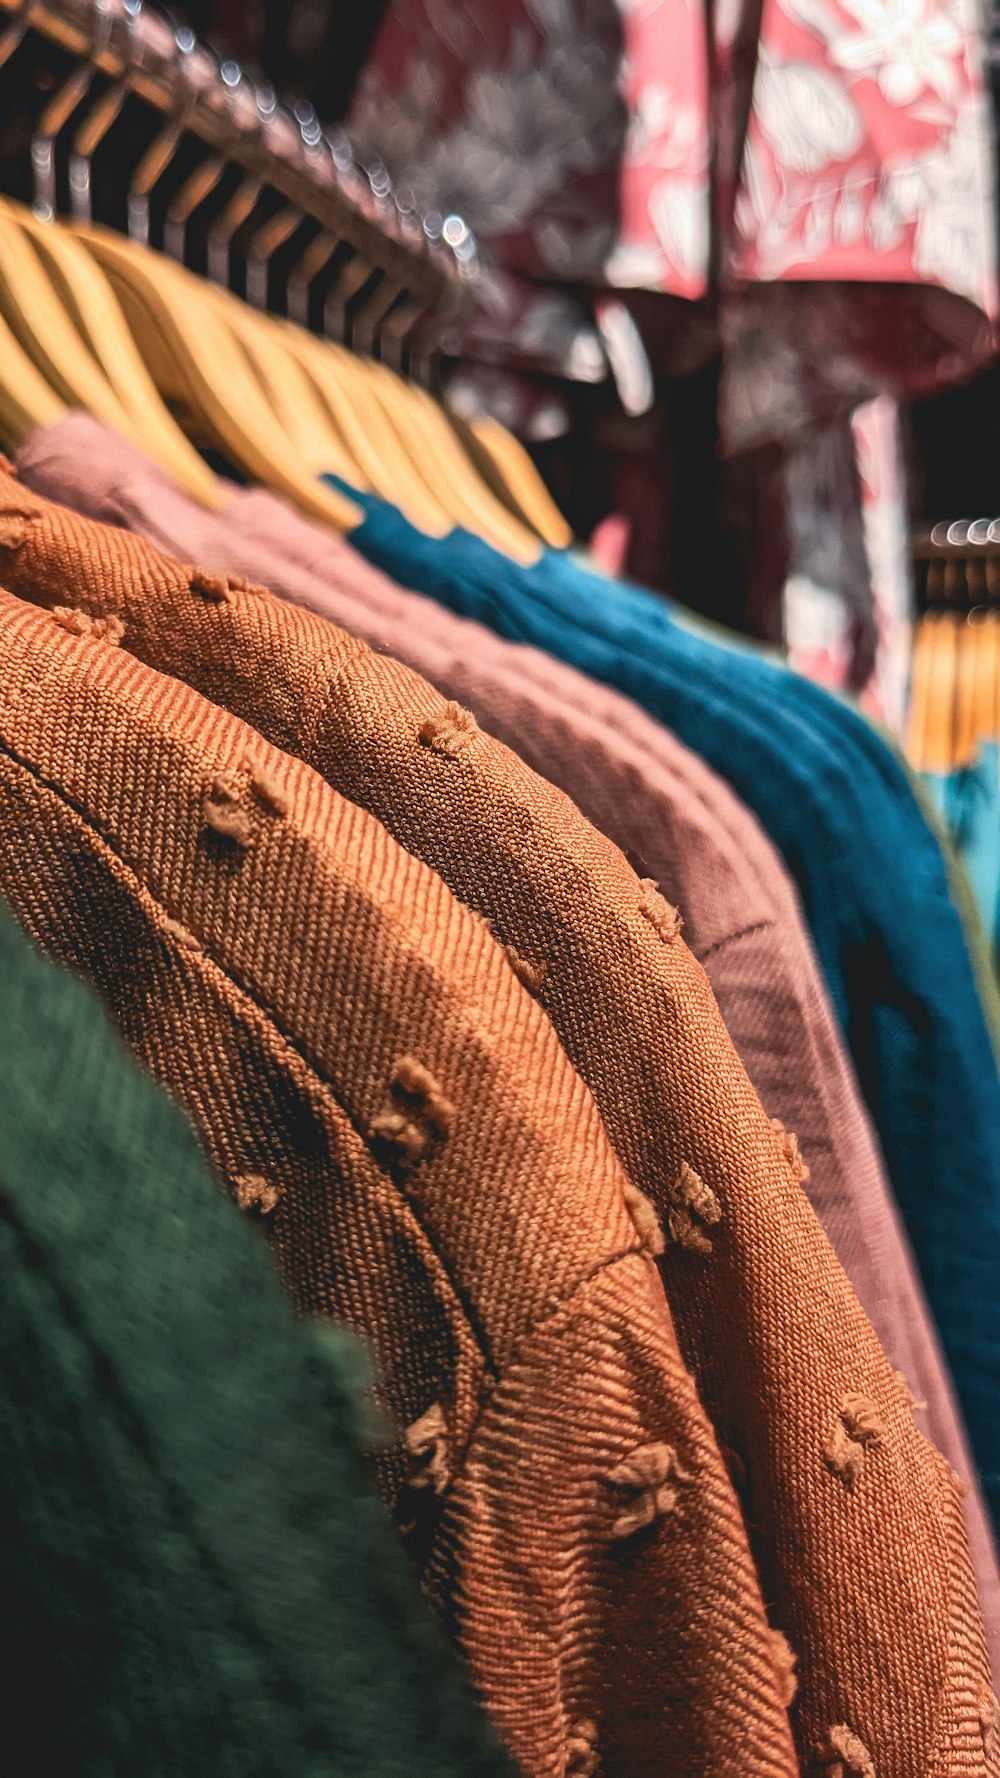
<svg viewBox="0 0 1000 1778">
<path fill-rule="evenodd" d="M 907 754 L 922 772 L 956 772 L 1000 740 L 1000 519 L 920 530 L 913 560 L 923 610 Z"/>
</svg>

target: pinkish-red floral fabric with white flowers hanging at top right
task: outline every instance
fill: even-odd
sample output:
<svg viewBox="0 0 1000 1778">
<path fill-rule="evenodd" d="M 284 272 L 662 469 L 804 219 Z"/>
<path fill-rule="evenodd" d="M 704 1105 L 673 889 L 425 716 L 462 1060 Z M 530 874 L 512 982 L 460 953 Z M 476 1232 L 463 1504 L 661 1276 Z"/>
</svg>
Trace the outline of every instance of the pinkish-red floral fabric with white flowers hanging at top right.
<svg viewBox="0 0 1000 1778">
<path fill-rule="evenodd" d="M 393 0 L 351 132 L 489 244 L 473 357 L 596 380 L 573 286 L 658 292 L 730 450 L 993 350 L 975 0 Z"/>
</svg>

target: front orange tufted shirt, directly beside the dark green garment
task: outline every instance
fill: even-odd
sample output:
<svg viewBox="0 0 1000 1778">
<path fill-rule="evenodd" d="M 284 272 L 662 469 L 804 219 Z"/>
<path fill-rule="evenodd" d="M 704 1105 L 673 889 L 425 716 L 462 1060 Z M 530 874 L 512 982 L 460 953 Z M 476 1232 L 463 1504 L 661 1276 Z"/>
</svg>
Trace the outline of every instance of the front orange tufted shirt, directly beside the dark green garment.
<svg viewBox="0 0 1000 1778">
<path fill-rule="evenodd" d="M 126 542 L 80 535 L 109 585 Z M 294 615 L 192 574 L 190 660 L 201 615 L 258 605 Z M 80 610 L 0 597 L 0 889 L 185 1102 L 295 1305 L 370 1337 L 386 1499 L 511 1751 L 792 1773 L 738 1502 L 544 1013 L 372 816 Z"/>
</svg>

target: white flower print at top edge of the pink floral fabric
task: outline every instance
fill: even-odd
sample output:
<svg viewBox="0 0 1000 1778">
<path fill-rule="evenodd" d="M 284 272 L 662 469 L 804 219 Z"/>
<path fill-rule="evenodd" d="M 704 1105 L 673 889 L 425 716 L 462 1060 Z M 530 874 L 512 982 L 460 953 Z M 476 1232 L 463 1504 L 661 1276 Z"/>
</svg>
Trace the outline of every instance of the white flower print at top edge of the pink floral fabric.
<svg viewBox="0 0 1000 1778">
<path fill-rule="evenodd" d="M 925 87 L 954 103 L 966 32 L 941 0 L 842 0 L 858 32 L 829 39 L 836 68 L 874 78 L 890 105 L 913 105 Z"/>
</svg>

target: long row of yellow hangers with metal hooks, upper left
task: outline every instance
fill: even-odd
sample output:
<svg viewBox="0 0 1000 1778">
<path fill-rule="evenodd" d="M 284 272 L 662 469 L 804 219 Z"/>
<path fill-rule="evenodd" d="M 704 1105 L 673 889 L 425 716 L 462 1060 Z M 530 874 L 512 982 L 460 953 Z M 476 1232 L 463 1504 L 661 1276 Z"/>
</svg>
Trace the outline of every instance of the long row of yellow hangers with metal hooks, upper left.
<svg viewBox="0 0 1000 1778">
<path fill-rule="evenodd" d="M 0 11 L 5 5 L 9 0 L 0 0 Z M 25 11 L 30 5 L 20 7 L 21 16 L 0 37 L 0 66 L 23 39 Z M 208 165 L 199 158 L 180 185 L 174 180 L 171 204 L 160 212 L 176 258 L 157 252 L 148 244 L 149 217 L 181 144 L 176 119 L 130 169 L 125 206 L 139 238 L 93 220 L 93 155 L 121 110 L 114 84 L 96 103 L 84 103 L 110 41 L 107 9 L 96 7 L 94 21 L 85 68 L 60 84 L 32 142 L 34 206 L 0 201 L 0 432 L 7 446 L 16 448 L 66 407 L 84 407 L 208 507 L 219 505 L 219 485 L 201 450 L 214 448 L 246 478 L 340 530 L 363 514 L 319 480 L 322 471 L 391 500 L 431 537 L 461 525 L 518 562 L 534 560 L 541 542 L 568 544 L 568 526 L 509 432 L 489 420 L 457 421 L 425 388 L 375 356 L 383 324 L 402 315 L 409 327 L 413 311 L 429 300 L 427 290 L 420 297 L 404 290 L 400 304 L 399 274 L 379 270 L 374 279 L 367 260 L 358 267 L 352 247 L 352 281 L 370 286 L 361 322 L 372 356 L 361 357 L 196 276 L 180 261 L 189 222 L 221 181 L 219 155 Z M 192 50 L 178 53 L 190 57 Z M 73 224 L 53 215 L 60 135 L 69 137 L 64 160 L 78 217 Z M 253 181 L 263 183 L 260 165 Z M 233 238 L 233 217 L 246 203 L 244 180 L 215 219 L 215 249 Z M 292 204 L 256 222 L 246 265 L 251 299 L 270 297 L 269 258 L 297 222 L 301 212 Z M 459 231 L 452 233 L 457 238 Z M 331 258 L 329 238 L 311 233 L 299 270 L 302 261 L 306 272 L 319 270 L 324 252 Z M 343 286 L 338 300 L 343 311 Z M 393 338 L 399 345 L 402 329 Z"/>
</svg>

